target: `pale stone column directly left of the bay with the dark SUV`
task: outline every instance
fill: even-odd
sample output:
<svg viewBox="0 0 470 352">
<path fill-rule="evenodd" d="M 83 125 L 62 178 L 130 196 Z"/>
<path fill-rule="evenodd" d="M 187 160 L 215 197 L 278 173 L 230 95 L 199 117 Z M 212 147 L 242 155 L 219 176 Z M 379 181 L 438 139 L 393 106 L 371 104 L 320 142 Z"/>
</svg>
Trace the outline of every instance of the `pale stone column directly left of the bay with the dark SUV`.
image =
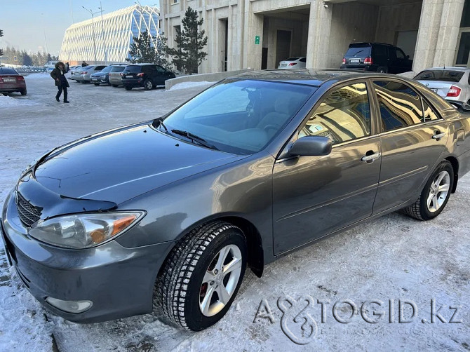
<svg viewBox="0 0 470 352">
<path fill-rule="evenodd" d="M 309 36 L 307 39 L 307 67 L 325 68 L 328 66 L 328 46 L 330 43 L 331 16 L 333 4 L 328 7 L 323 1 L 310 4 Z"/>
</svg>

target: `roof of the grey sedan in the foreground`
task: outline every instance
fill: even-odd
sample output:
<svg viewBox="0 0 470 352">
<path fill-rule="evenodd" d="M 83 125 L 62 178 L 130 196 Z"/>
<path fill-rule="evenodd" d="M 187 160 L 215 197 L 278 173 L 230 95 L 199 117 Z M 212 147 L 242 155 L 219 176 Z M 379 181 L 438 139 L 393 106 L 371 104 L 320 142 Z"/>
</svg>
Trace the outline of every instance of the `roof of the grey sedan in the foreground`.
<svg viewBox="0 0 470 352">
<path fill-rule="evenodd" d="M 278 81 L 285 83 L 304 84 L 306 86 L 319 87 L 323 83 L 335 80 L 346 81 L 347 79 L 370 78 L 372 76 L 405 79 L 403 76 L 391 76 L 388 74 L 377 74 L 374 72 L 357 72 L 346 69 L 266 69 L 252 71 L 230 77 L 231 79 L 255 79 L 262 81 Z M 405 79 L 405 81 L 408 81 Z"/>
</svg>

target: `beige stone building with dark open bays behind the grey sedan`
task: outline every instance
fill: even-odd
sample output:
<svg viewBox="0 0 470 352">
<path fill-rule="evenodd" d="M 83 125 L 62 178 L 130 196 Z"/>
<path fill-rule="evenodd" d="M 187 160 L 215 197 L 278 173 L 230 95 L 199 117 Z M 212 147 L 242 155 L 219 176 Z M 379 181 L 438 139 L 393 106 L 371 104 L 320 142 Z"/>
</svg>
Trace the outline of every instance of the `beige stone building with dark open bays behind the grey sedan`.
<svg viewBox="0 0 470 352">
<path fill-rule="evenodd" d="M 200 73 L 271 69 L 306 56 L 307 67 L 340 67 L 349 43 L 401 47 L 425 67 L 469 66 L 470 0 L 161 0 L 171 46 L 188 6 L 203 18 Z"/>
</svg>

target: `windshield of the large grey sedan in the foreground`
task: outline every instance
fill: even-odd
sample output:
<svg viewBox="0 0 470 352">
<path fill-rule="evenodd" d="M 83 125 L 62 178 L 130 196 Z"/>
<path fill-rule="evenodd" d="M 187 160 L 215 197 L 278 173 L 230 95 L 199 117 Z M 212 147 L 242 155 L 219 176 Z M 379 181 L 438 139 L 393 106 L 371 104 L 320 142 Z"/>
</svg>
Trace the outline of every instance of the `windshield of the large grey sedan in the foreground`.
<svg viewBox="0 0 470 352">
<path fill-rule="evenodd" d="M 227 79 L 173 111 L 163 125 L 156 120 L 154 126 L 189 142 L 202 139 L 214 149 L 253 154 L 281 132 L 315 90 L 290 83 Z"/>
</svg>

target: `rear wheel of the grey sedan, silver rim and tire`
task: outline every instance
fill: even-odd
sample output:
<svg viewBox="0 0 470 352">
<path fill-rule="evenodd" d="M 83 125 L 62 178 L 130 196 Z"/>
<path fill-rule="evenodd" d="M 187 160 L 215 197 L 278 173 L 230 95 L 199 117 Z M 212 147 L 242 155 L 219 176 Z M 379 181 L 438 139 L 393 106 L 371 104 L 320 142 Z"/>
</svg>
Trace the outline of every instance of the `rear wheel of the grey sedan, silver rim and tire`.
<svg viewBox="0 0 470 352">
<path fill-rule="evenodd" d="M 449 161 L 443 161 L 429 177 L 417 201 L 404 208 L 405 213 L 419 220 L 434 219 L 445 208 L 453 186 L 454 169 Z"/>
</svg>

